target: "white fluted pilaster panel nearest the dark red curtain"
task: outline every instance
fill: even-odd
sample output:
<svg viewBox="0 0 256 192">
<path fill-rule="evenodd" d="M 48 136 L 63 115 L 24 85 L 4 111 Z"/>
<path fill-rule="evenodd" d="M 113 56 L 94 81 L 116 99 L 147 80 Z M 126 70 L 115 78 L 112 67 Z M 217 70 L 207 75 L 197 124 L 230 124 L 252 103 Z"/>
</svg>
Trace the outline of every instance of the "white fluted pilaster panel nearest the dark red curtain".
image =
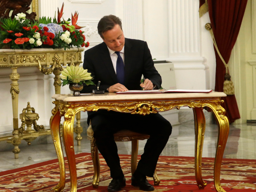
<svg viewBox="0 0 256 192">
<path fill-rule="evenodd" d="M 169 0 L 169 56 L 200 56 L 199 1 Z"/>
</svg>

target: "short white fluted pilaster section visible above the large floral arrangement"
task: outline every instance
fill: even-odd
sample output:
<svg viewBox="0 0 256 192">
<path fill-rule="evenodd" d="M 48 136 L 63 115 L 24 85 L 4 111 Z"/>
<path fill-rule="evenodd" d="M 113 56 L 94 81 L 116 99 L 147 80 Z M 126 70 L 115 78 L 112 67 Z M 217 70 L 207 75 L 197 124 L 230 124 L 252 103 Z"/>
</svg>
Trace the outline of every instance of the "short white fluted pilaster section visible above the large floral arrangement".
<svg viewBox="0 0 256 192">
<path fill-rule="evenodd" d="M 61 5 L 60 5 L 61 6 Z M 59 10 L 61 7 L 59 7 Z M 46 16 L 54 18 L 56 11 L 56 18 L 58 14 L 58 0 L 39 0 L 38 2 L 39 17 Z"/>
</svg>

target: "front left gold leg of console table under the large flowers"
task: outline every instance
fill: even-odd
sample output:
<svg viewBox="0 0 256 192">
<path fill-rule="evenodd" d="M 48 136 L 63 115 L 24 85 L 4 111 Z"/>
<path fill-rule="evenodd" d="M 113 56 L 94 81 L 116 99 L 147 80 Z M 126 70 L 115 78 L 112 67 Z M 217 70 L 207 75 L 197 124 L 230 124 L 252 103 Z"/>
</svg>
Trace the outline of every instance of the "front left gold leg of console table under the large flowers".
<svg viewBox="0 0 256 192">
<path fill-rule="evenodd" d="M 14 145 L 14 149 L 12 152 L 14 153 L 15 159 L 19 158 L 19 144 L 21 143 L 21 140 L 19 138 L 19 119 L 18 119 L 18 100 L 19 100 L 19 74 L 17 73 L 17 67 L 13 67 L 12 73 L 10 74 L 10 79 L 12 80 L 11 84 L 11 95 L 12 95 L 12 114 L 13 114 L 13 129 L 14 131 L 12 132 L 12 144 Z"/>
</svg>

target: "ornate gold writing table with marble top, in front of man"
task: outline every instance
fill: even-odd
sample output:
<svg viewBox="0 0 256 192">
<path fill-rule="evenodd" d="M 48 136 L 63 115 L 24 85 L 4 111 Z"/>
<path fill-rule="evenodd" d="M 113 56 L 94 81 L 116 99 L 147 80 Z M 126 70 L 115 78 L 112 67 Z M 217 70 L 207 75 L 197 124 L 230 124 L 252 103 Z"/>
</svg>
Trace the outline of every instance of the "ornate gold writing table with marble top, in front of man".
<svg viewBox="0 0 256 192">
<path fill-rule="evenodd" d="M 210 108 L 218 123 L 218 143 L 214 162 L 214 186 L 216 191 L 225 192 L 220 184 L 221 162 L 229 134 L 229 121 L 222 108 L 221 97 L 226 94 L 212 93 L 164 93 L 164 94 L 116 94 L 105 93 L 102 95 L 87 94 L 81 97 L 72 97 L 71 94 L 55 94 L 50 118 L 50 129 L 53 143 L 56 149 L 60 165 L 60 182 L 54 188 L 55 192 L 61 192 L 65 187 L 65 166 L 63 150 L 60 140 L 60 120 L 64 116 L 63 142 L 67 155 L 71 192 L 77 190 L 76 162 L 74 152 L 74 120 L 80 111 L 97 111 L 98 109 L 113 110 L 121 113 L 147 115 L 171 109 L 180 109 L 188 106 L 193 109 L 195 119 L 195 176 L 197 186 L 203 189 L 206 182 L 202 178 L 202 150 L 205 132 L 205 117 L 203 108 Z M 93 149 L 91 149 L 93 150 Z M 97 170 L 96 170 L 97 171 Z M 94 178 L 94 181 L 98 178 Z"/>
</svg>

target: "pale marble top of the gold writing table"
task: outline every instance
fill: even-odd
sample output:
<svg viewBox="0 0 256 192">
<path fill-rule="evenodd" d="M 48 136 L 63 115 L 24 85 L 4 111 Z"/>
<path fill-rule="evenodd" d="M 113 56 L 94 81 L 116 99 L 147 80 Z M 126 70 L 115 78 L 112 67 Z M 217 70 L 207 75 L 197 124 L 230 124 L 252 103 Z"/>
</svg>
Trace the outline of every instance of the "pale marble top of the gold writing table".
<svg viewBox="0 0 256 192">
<path fill-rule="evenodd" d="M 211 93 L 140 93 L 140 94 L 116 94 L 116 93 L 105 93 L 105 94 L 81 94 L 81 96 L 73 97 L 72 94 L 55 94 L 52 96 L 53 99 L 65 102 L 77 102 L 77 101 L 133 101 L 133 100 L 155 100 L 155 99 L 181 99 L 181 98 L 213 98 L 213 97 L 226 97 L 227 95 L 223 92 Z"/>
</svg>

